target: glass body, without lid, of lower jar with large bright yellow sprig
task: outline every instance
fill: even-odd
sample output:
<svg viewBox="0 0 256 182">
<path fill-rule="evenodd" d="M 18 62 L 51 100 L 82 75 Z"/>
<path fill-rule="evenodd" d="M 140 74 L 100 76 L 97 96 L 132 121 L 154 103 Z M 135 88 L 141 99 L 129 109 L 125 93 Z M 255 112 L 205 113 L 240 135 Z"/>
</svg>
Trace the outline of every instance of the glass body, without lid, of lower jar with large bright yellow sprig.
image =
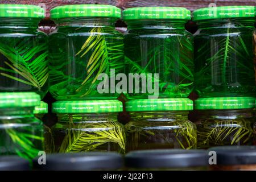
<svg viewBox="0 0 256 182">
<path fill-rule="evenodd" d="M 117 113 L 58 114 L 52 127 L 55 152 L 126 150 L 126 134 Z"/>
</svg>

